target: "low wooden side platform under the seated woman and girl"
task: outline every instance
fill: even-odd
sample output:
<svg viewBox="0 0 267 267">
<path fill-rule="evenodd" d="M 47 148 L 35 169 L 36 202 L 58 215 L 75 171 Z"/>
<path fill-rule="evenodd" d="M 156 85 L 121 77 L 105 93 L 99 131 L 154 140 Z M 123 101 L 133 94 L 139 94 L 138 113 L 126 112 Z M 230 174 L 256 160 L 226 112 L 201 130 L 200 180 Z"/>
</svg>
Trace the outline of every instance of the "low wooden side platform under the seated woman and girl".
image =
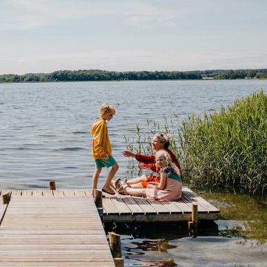
<svg viewBox="0 0 267 267">
<path fill-rule="evenodd" d="M 103 221 L 106 222 L 190 221 L 193 202 L 198 205 L 198 219 L 217 220 L 219 215 L 215 206 L 187 187 L 183 188 L 182 197 L 177 201 L 155 201 L 120 194 L 103 195 Z"/>
</svg>

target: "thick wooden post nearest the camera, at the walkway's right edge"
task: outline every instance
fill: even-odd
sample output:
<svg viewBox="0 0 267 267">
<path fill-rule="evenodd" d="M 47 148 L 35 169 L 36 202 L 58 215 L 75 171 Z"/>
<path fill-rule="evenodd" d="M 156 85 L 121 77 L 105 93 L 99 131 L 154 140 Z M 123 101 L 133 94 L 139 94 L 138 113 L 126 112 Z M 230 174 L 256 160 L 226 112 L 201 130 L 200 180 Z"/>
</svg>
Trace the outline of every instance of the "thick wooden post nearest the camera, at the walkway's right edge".
<svg viewBox="0 0 267 267">
<path fill-rule="evenodd" d="M 123 267 L 124 260 L 121 257 L 121 236 L 114 233 L 108 232 L 110 239 L 110 250 L 116 267 Z"/>
</svg>

